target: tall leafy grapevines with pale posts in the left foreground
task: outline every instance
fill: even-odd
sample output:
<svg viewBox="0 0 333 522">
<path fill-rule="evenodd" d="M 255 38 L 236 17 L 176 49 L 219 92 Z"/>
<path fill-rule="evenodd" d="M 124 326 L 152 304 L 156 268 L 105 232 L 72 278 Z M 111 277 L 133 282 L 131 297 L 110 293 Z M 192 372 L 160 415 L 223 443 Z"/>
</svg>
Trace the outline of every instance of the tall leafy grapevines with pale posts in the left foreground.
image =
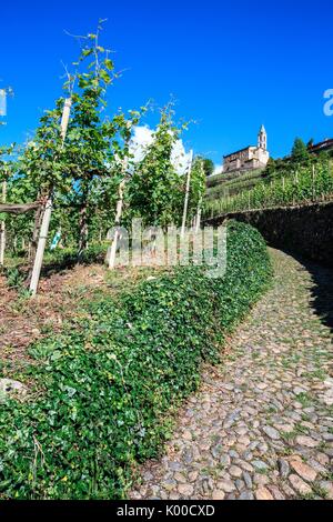
<svg viewBox="0 0 333 522">
<path fill-rule="evenodd" d="M 107 254 L 109 247 L 112 268 L 119 239 L 117 231 L 110 239 L 113 227 L 128 227 L 133 218 L 164 230 L 200 220 L 203 160 L 189 162 L 185 152 L 174 159 L 188 124 L 175 122 L 168 103 L 138 159 L 134 133 L 150 104 L 110 113 L 107 92 L 119 74 L 100 43 L 102 28 L 81 38 L 65 96 L 44 112 L 34 135 L 26 145 L 0 149 L 0 265 L 21 264 L 32 295 L 50 249 L 56 258 L 60 249 L 81 262 L 88 248 Z"/>
</svg>

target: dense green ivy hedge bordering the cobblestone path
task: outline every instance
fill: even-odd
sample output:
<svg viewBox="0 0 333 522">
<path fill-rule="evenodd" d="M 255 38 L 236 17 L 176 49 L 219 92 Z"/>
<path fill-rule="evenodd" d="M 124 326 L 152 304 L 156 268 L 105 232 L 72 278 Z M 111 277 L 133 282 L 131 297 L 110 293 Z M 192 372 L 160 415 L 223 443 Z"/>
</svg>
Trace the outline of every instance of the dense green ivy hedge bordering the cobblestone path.
<svg viewBox="0 0 333 522">
<path fill-rule="evenodd" d="M 259 232 L 230 222 L 223 279 L 178 269 L 34 345 L 36 391 L 1 404 L 0 496 L 123 498 L 135 464 L 161 451 L 165 414 L 196 389 L 202 361 L 220 360 L 270 278 Z"/>
</svg>

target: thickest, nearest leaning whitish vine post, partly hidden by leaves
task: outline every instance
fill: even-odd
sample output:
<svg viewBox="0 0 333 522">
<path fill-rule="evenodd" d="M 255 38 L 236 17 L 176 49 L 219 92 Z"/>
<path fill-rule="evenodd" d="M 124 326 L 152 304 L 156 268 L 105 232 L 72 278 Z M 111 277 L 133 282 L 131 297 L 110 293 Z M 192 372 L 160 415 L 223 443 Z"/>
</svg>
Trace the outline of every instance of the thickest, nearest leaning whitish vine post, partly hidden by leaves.
<svg viewBox="0 0 333 522">
<path fill-rule="evenodd" d="M 63 147 L 64 140 L 65 140 L 71 106 L 72 106 L 71 98 L 65 99 L 64 100 L 64 106 L 63 106 L 63 111 L 62 111 L 62 119 L 61 119 L 62 147 Z M 44 209 L 44 213 L 43 213 L 43 218 L 42 218 L 42 222 L 41 222 L 41 229 L 40 229 L 40 234 L 39 234 L 39 240 L 38 240 L 38 248 L 37 248 L 37 252 L 36 252 L 33 270 L 32 270 L 32 277 L 31 277 L 31 281 L 30 281 L 30 292 L 31 292 L 32 297 L 34 297 L 37 294 L 37 290 L 38 290 L 40 272 L 41 272 L 41 268 L 42 268 L 44 250 L 46 250 L 47 239 L 48 239 L 48 233 L 49 233 L 49 227 L 50 227 L 50 221 L 51 221 L 51 213 L 52 213 L 52 193 L 49 194 L 49 198 L 48 198 L 48 201 L 47 201 L 47 204 L 46 204 L 46 209 Z"/>
</svg>

